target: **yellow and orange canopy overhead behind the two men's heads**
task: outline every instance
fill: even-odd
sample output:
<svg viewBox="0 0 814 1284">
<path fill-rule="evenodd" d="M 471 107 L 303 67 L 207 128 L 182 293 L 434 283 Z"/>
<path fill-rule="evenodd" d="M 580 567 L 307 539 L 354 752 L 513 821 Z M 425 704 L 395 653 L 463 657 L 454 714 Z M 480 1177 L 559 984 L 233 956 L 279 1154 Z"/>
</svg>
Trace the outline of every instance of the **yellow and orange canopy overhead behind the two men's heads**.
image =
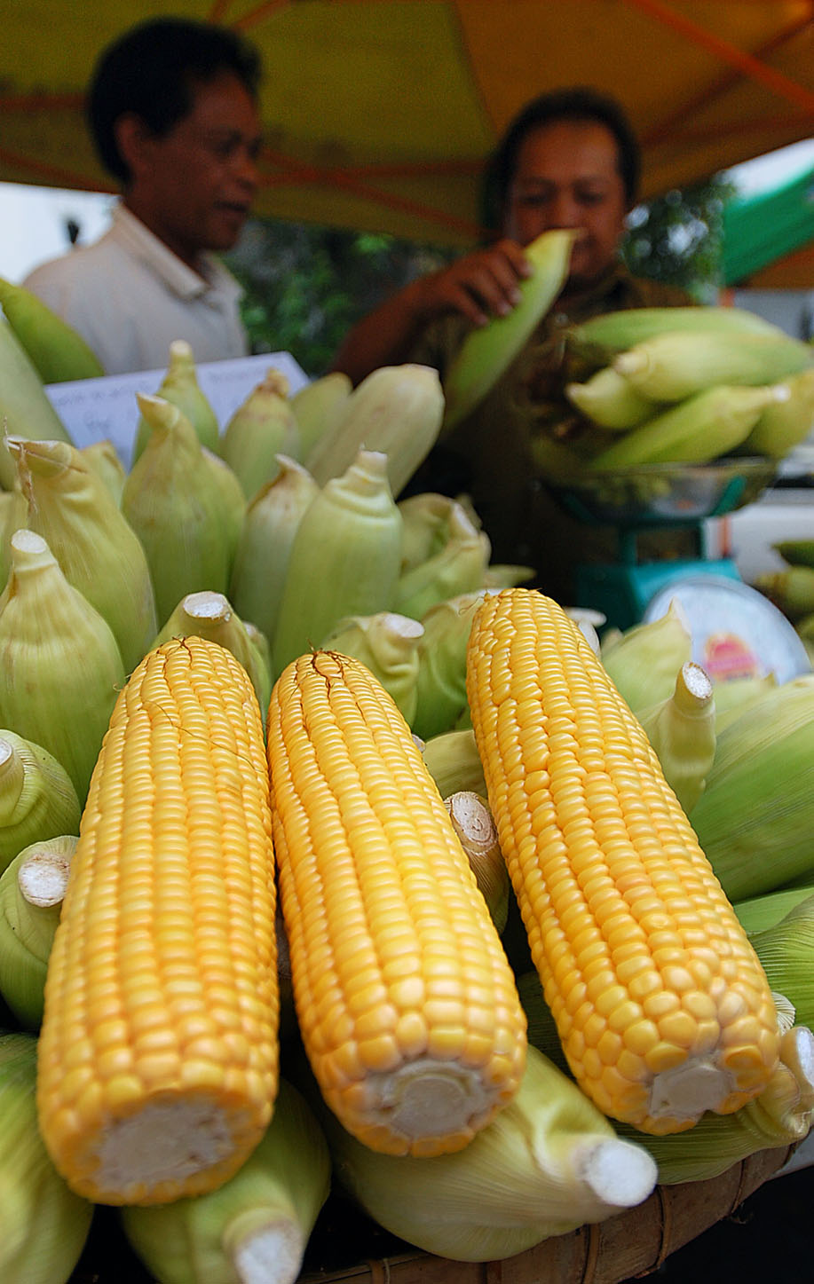
<svg viewBox="0 0 814 1284">
<path fill-rule="evenodd" d="M 484 158 L 564 85 L 621 100 L 645 198 L 814 132 L 811 0 L 10 0 L 0 180 L 108 190 L 83 87 L 105 44 L 167 13 L 259 46 L 255 208 L 291 221 L 470 243 Z"/>
</svg>

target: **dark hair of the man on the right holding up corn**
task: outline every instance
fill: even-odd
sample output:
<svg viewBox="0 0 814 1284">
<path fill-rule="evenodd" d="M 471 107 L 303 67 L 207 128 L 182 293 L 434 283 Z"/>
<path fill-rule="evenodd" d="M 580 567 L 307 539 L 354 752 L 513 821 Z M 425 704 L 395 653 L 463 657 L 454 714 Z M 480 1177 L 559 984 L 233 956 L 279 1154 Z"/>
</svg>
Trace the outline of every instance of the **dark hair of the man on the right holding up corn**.
<svg viewBox="0 0 814 1284">
<path fill-rule="evenodd" d="M 623 107 L 606 94 L 587 86 L 557 89 L 533 98 L 510 122 L 494 149 L 484 175 L 483 218 L 484 226 L 498 229 L 506 207 L 506 196 L 517 168 L 517 153 L 526 135 L 546 125 L 560 121 L 603 125 L 616 139 L 619 175 L 628 203 L 638 195 L 641 153 L 636 131 Z"/>
</svg>

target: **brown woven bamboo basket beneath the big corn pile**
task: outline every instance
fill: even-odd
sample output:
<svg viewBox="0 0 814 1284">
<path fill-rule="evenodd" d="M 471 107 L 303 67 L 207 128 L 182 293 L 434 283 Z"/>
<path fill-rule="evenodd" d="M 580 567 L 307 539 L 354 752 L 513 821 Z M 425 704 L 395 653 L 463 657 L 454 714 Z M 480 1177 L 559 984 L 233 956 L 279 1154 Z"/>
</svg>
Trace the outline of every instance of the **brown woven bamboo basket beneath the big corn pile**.
<svg viewBox="0 0 814 1284">
<path fill-rule="evenodd" d="M 620 1284 L 657 1270 L 670 1253 L 729 1217 L 792 1152 L 761 1150 L 709 1181 L 657 1186 L 637 1208 L 499 1262 L 455 1262 L 411 1249 L 331 1197 L 298 1284 Z M 116 1212 L 98 1212 L 68 1284 L 154 1284 L 125 1243 Z"/>
</svg>

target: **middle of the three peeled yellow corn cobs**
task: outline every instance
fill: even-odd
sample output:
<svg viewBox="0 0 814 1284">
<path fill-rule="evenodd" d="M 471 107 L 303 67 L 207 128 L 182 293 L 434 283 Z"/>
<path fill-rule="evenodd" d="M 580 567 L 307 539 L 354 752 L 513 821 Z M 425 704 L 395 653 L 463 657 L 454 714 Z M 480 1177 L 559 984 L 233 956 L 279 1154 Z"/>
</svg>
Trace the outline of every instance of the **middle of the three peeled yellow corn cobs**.
<svg viewBox="0 0 814 1284">
<path fill-rule="evenodd" d="M 516 1091 L 525 1017 L 463 849 L 392 697 L 303 655 L 267 719 L 275 847 L 303 1045 L 374 1150 L 465 1147 Z"/>
</svg>

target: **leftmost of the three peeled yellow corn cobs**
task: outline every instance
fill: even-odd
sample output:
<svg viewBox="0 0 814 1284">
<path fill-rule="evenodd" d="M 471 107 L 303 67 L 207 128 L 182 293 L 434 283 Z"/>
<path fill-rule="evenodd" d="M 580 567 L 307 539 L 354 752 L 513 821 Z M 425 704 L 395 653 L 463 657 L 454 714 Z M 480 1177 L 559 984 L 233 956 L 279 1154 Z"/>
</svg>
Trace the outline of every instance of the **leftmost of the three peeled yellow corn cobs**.
<svg viewBox="0 0 814 1284">
<path fill-rule="evenodd" d="M 118 697 L 45 984 L 40 1129 L 96 1203 L 214 1189 L 277 1086 L 275 887 L 259 707 L 230 651 L 177 638 Z"/>
</svg>

